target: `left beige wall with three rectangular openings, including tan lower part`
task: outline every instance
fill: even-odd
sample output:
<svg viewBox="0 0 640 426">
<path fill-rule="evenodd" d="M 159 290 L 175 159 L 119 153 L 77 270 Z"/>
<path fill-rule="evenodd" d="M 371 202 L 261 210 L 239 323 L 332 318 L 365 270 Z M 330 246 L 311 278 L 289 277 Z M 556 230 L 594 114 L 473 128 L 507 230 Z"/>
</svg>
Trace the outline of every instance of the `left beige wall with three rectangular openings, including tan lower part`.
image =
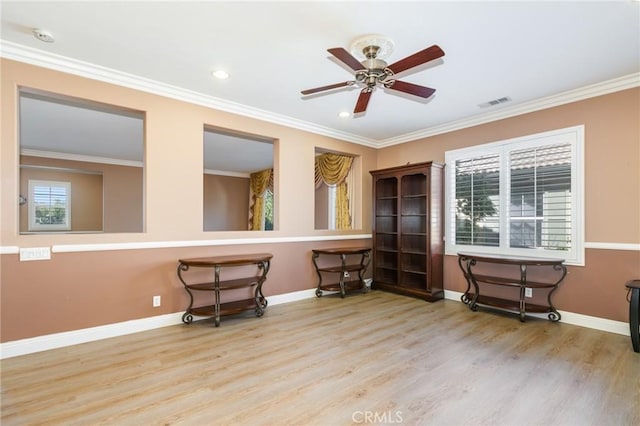
<svg viewBox="0 0 640 426">
<path fill-rule="evenodd" d="M 51 260 L 20 262 L 1 255 L 1 340 L 3 342 L 131 319 L 179 312 L 184 290 L 176 277 L 179 257 L 271 252 L 267 295 L 310 289 L 311 249 L 369 245 L 348 240 L 316 243 L 207 245 L 208 241 L 261 238 L 311 239 L 369 234 L 371 183 L 376 150 L 210 108 L 86 78 L 2 59 L 0 146 L 0 246 L 58 247 L 110 244 L 158 244 L 194 241 L 192 248 L 54 252 Z M 145 167 L 142 217 L 145 232 L 83 235 L 20 235 L 19 151 L 16 115 L 18 87 L 107 103 L 145 113 Z M 263 135 L 275 140 L 274 231 L 204 232 L 202 129 L 205 125 Z M 359 157 L 358 229 L 314 229 L 316 149 Z M 125 179 L 125 183 L 126 183 Z M 110 201 L 105 198 L 105 205 Z M 125 201 L 122 201 L 122 206 Z M 204 243 L 198 243 L 204 241 Z M 203 244 L 200 246 L 200 244 Z M 110 247 L 110 246 L 109 246 Z M 160 308 L 151 308 L 162 295 Z"/>
</svg>

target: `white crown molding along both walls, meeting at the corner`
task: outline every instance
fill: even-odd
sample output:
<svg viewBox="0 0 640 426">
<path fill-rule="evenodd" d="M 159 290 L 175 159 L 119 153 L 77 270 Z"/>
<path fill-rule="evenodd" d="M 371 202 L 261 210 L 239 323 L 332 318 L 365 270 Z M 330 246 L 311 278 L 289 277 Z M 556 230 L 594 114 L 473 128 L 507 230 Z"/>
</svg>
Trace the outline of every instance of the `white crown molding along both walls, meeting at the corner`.
<svg viewBox="0 0 640 426">
<path fill-rule="evenodd" d="M 147 93 L 165 96 L 196 105 L 205 106 L 221 111 L 226 111 L 245 117 L 255 118 L 274 124 L 291 127 L 328 136 L 347 142 L 353 142 L 359 145 L 371 148 L 384 148 L 392 145 L 398 145 L 405 142 L 411 142 L 417 139 L 423 139 L 430 136 L 436 136 L 443 133 L 452 132 L 454 130 L 465 129 L 467 127 L 477 126 L 504 118 L 514 117 L 517 115 L 527 114 L 529 112 L 541 109 L 551 108 L 571 102 L 577 102 L 583 99 L 595 96 L 605 95 L 607 93 L 617 92 L 620 90 L 630 89 L 640 86 L 640 73 L 629 74 L 624 77 L 613 80 L 592 84 L 583 88 L 578 88 L 568 92 L 560 93 L 546 98 L 537 99 L 512 107 L 500 109 L 500 111 L 476 115 L 450 123 L 444 123 L 432 126 L 416 132 L 406 133 L 404 135 L 388 138 L 384 140 L 375 140 L 357 136 L 351 133 L 341 132 L 307 121 L 298 120 L 281 114 L 275 114 L 269 111 L 249 107 L 247 105 L 230 102 L 213 96 L 206 96 L 191 90 L 171 86 L 158 81 L 150 80 L 133 74 L 124 73 L 107 67 L 91 64 L 84 61 L 68 58 L 61 55 L 33 49 L 28 46 L 13 43 L 0 39 L 0 56 L 36 65 L 68 74 L 78 75 L 93 80 L 103 81 L 105 83 L 116 84 Z"/>
</svg>

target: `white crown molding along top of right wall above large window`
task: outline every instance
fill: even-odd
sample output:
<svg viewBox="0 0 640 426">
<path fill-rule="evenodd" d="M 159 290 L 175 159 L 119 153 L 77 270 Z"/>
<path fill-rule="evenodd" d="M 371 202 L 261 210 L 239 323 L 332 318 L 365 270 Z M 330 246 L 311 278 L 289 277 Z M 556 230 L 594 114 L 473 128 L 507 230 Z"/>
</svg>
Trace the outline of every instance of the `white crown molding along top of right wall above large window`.
<svg viewBox="0 0 640 426">
<path fill-rule="evenodd" d="M 553 108 L 572 102 L 578 102 L 584 99 L 602 96 L 608 93 L 619 92 L 621 90 L 631 89 L 638 86 L 640 86 L 640 72 L 581 87 L 579 89 L 570 90 L 568 92 L 559 93 L 557 95 L 547 96 L 545 98 L 540 98 L 530 102 L 514 105 L 512 107 L 502 108 L 499 111 L 475 115 L 473 117 L 463 118 L 461 120 L 452 121 L 450 123 L 444 123 L 438 126 L 429 127 L 427 129 L 418 130 L 416 132 L 407 133 L 394 138 L 385 139 L 383 141 L 380 141 L 380 143 L 378 144 L 378 148 L 384 148 L 405 142 L 415 141 L 418 139 L 424 139 L 443 133 L 449 133 L 454 130 L 466 129 L 468 127 L 478 126 L 480 124 L 490 123 L 492 121 L 502 120 L 509 117 L 515 117 L 517 115 L 528 114 L 530 112 L 547 108 Z"/>
</svg>

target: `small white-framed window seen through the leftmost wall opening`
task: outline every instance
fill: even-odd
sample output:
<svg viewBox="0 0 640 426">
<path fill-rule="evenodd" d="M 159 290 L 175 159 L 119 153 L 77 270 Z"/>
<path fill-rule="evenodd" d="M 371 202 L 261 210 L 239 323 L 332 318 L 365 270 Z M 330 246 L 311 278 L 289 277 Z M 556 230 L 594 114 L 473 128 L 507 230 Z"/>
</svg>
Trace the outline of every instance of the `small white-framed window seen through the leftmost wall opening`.
<svg viewBox="0 0 640 426">
<path fill-rule="evenodd" d="M 71 229 L 71 182 L 29 180 L 29 231 Z"/>
</svg>

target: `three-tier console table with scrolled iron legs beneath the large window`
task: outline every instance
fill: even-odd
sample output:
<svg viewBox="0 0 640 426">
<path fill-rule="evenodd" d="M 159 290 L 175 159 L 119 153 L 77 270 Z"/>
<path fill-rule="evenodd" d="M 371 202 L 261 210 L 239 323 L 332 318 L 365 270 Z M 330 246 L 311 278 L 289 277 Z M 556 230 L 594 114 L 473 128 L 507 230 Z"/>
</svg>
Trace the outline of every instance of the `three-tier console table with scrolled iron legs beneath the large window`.
<svg viewBox="0 0 640 426">
<path fill-rule="evenodd" d="M 478 272 L 477 267 L 508 265 L 517 268 L 513 276 Z M 515 257 L 489 254 L 458 253 L 458 265 L 467 281 L 467 290 L 461 297 L 462 302 L 469 305 L 473 311 L 478 310 L 478 305 L 491 306 L 507 311 L 516 311 L 520 321 L 524 322 L 527 313 L 546 313 L 549 320 L 556 322 L 561 318 L 560 312 L 553 306 L 551 300 L 558 285 L 567 275 L 564 260 L 534 257 Z M 531 267 L 548 268 L 550 278 L 548 281 L 532 281 L 527 276 L 527 270 Z M 506 275 L 506 274 L 505 274 Z M 502 287 L 511 287 L 518 290 L 518 299 L 486 296 L 481 293 L 481 288 L 486 284 Z M 539 305 L 528 303 L 525 299 L 526 289 L 546 289 L 547 304 Z"/>
</svg>

